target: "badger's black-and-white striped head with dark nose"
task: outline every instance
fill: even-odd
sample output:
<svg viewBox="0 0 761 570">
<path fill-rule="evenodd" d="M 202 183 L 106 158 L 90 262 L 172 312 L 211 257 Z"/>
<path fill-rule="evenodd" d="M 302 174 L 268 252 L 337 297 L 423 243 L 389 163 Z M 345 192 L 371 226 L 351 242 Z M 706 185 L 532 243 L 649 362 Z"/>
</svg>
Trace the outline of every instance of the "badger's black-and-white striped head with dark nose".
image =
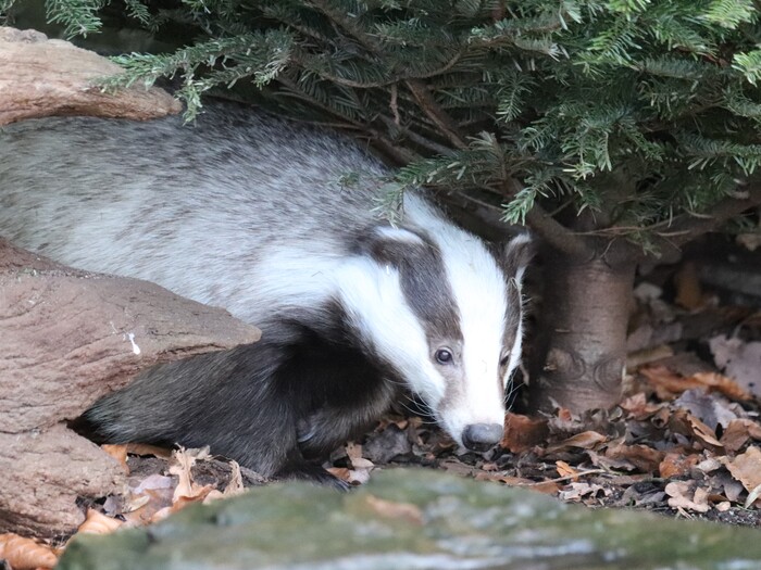
<svg viewBox="0 0 761 570">
<path fill-rule="evenodd" d="M 432 231 L 377 227 L 348 269 L 341 296 L 367 347 L 470 449 L 502 436 L 531 249 L 520 236 L 495 255 L 446 223 Z"/>
</svg>

